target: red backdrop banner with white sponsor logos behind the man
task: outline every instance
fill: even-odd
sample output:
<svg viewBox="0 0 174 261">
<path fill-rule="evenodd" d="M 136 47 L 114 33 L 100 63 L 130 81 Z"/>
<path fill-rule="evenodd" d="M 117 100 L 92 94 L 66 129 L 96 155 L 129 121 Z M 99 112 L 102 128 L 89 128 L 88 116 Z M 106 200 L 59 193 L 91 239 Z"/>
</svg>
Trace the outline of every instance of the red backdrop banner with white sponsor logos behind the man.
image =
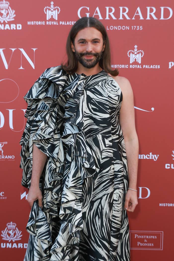
<svg viewBox="0 0 174 261">
<path fill-rule="evenodd" d="M 70 28 L 83 16 L 105 26 L 112 68 L 129 79 L 139 137 L 138 205 L 128 212 L 131 261 L 173 260 L 173 0 L 0 2 L 0 251 L 22 261 L 29 234 L 21 186 L 23 96 L 49 67 L 66 60 Z"/>
</svg>

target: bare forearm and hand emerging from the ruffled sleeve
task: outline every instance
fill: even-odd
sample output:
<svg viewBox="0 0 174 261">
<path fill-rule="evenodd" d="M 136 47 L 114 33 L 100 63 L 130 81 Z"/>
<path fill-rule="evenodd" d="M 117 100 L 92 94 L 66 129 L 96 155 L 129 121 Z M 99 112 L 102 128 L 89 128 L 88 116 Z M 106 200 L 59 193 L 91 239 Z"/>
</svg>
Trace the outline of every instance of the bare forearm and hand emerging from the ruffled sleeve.
<svg viewBox="0 0 174 261">
<path fill-rule="evenodd" d="M 33 165 L 31 175 L 31 186 L 29 188 L 27 201 L 32 207 L 34 200 L 39 201 L 39 206 L 42 207 L 42 193 L 39 188 L 39 180 L 44 169 L 44 165 L 47 159 L 47 155 L 40 151 L 38 147 L 33 144 Z"/>
</svg>

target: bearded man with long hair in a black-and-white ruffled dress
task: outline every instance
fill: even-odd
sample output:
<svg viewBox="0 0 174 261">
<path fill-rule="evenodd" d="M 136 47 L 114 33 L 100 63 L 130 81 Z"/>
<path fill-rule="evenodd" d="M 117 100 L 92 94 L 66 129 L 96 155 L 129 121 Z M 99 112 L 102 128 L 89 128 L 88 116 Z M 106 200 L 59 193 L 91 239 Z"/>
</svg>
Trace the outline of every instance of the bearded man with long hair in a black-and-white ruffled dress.
<svg viewBox="0 0 174 261">
<path fill-rule="evenodd" d="M 25 260 L 127 261 L 138 164 L 131 85 L 111 69 L 97 19 L 79 19 L 66 48 L 67 63 L 47 68 L 24 97 Z"/>
</svg>

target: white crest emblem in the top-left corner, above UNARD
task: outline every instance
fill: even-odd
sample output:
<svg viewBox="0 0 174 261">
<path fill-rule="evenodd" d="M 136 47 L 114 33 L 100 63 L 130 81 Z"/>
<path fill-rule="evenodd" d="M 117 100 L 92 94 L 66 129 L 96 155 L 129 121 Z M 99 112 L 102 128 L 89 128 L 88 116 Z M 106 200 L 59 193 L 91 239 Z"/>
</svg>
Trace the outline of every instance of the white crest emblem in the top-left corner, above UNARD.
<svg viewBox="0 0 174 261">
<path fill-rule="evenodd" d="M 13 21 L 16 15 L 15 10 L 12 10 L 11 7 L 9 6 L 9 2 L 3 0 L 0 2 L 0 21 L 3 23 L 5 21 L 6 23 L 8 21 Z"/>
</svg>

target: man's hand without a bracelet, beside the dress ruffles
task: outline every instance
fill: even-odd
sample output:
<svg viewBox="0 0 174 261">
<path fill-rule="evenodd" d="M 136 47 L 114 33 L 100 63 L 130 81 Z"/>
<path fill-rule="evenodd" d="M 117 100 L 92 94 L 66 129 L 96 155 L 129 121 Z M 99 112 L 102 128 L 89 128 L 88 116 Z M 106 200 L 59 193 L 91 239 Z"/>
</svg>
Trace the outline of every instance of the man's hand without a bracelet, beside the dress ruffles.
<svg viewBox="0 0 174 261">
<path fill-rule="evenodd" d="M 42 206 L 42 192 L 41 192 L 39 186 L 31 185 L 29 188 L 28 196 L 27 196 L 27 201 L 31 208 L 33 206 L 33 202 L 37 199 L 39 201 L 39 206 L 43 207 Z"/>
</svg>

